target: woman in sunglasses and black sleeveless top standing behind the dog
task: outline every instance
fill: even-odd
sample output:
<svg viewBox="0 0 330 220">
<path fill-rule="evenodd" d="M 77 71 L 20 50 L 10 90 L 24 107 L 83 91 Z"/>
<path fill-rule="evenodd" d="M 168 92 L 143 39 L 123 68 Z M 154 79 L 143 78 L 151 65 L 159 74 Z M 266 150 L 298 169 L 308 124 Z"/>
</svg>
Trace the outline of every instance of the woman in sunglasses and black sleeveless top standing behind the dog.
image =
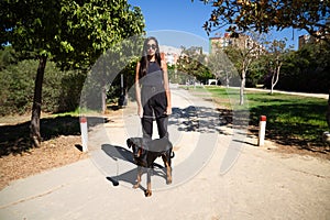
<svg viewBox="0 0 330 220">
<path fill-rule="evenodd" d="M 144 41 L 142 57 L 136 65 L 135 89 L 143 138 L 152 139 L 154 117 L 160 139 L 168 138 L 167 123 L 172 106 L 167 65 L 161 59 L 158 42 L 153 36 Z"/>
</svg>

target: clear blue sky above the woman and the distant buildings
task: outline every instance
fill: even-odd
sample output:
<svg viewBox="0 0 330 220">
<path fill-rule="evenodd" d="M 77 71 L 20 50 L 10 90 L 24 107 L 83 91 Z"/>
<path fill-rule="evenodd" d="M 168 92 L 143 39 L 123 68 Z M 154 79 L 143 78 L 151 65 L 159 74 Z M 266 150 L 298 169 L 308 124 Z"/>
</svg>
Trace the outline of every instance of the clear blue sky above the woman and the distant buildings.
<svg viewBox="0 0 330 220">
<path fill-rule="evenodd" d="M 211 14 L 212 7 L 205 6 L 201 1 L 195 0 L 128 0 L 132 7 L 140 7 L 145 20 L 145 31 L 147 36 L 154 35 L 160 44 L 169 46 L 196 46 L 200 44 L 208 51 L 208 41 L 215 33 L 223 35 L 226 30 L 207 35 L 202 29 L 205 21 Z M 298 47 L 299 35 L 306 34 L 305 31 L 286 29 L 282 32 L 272 32 L 272 38 L 286 37 L 287 45 Z M 294 36 L 294 37 L 293 37 Z M 195 44 L 195 45 L 194 45 Z"/>
</svg>

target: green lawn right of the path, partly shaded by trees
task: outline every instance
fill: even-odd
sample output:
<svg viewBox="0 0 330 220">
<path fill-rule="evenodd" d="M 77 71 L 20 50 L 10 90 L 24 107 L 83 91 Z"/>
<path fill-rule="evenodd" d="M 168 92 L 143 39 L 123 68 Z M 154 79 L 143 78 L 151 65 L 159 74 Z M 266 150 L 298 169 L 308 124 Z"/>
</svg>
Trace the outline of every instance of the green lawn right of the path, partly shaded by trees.
<svg viewBox="0 0 330 220">
<path fill-rule="evenodd" d="M 201 89 L 201 88 L 198 88 Z M 238 89 L 206 87 L 215 102 L 231 108 L 229 97 Z M 238 96 L 239 97 L 239 96 Z M 245 108 L 250 111 L 250 130 L 257 132 L 260 116 L 266 116 L 266 138 L 279 144 L 301 148 L 321 147 L 322 133 L 329 130 L 326 122 L 328 100 L 267 91 L 245 91 Z"/>
</svg>

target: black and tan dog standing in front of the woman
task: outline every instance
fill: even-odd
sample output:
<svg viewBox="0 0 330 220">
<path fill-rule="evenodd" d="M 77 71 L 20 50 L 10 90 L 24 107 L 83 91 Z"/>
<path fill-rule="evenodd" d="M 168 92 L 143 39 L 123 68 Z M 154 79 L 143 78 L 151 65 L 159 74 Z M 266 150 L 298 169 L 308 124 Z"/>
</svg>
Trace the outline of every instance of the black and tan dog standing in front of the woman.
<svg viewBox="0 0 330 220">
<path fill-rule="evenodd" d="M 172 184 L 172 158 L 174 157 L 173 145 L 167 138 L 150 140 L 143 138 L 131 138 L 127 140 L 128 147 L 132 147 L 134 162 L 138 165 L 136 184 L 141 183 L 142 167 L 147 168 L 147 180 L 145 196 L 152 196 L 151 172 L 155 160 L 162 156 L 166 167 L 166 184 Z"/>
</svg>

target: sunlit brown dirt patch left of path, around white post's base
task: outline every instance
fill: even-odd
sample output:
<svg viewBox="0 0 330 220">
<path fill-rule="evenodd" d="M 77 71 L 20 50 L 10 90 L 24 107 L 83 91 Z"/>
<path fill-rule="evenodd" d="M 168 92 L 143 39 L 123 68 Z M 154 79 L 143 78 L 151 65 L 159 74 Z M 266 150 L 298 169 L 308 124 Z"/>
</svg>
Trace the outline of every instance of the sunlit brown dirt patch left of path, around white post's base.
<svg viewBox="0 0 330 220">
<path fill-rule="evenodd" d="M 0 189 L 10 182 L 87 158 L 88 154 L 76 147 L 81 143 L 80 139 L 75 135 L 59 136 L 22 154 L 0 157 Z"/>
</svg>

